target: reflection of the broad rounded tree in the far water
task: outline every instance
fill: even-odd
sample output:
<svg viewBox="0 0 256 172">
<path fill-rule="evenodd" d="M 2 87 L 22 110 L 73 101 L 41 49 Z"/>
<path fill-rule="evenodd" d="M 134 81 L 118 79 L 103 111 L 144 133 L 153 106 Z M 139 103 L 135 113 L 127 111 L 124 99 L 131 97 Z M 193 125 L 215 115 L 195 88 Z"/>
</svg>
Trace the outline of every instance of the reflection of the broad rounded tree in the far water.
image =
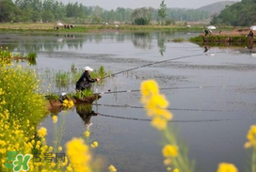
<svg viewBox="0 0 256 172">
<path fill-rule="evenodd" d="M 132 42 L 138 48 L 152 49 L 152 34 L 151 33 L 134 33 Z"/>
</svg>

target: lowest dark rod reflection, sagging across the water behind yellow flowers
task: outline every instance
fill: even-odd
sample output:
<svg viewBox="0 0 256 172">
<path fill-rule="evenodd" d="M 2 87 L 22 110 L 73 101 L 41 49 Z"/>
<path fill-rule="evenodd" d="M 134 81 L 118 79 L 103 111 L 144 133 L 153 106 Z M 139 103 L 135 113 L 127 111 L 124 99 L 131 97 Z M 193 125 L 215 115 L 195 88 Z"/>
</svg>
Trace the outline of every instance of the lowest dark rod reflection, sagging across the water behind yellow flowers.
<svg viewBox="0 0 256 172">
<path fill-rule="evenodd" d="M 152 119 L 147 118 L 137 118 L 137 117 L 120 117 L 120 116 L 113 116 L 113 115 L 106 115 L 106 114 L 99 114 L 102 117 L 113 117 L 125 120 L 136 120 L 136 121 L 148 121 L 151 122 Z M 245 119 L 245 117 L 239 118 L 216 118 L 216 119 L 195 119 L 195 120 L 169 120 L 168 123 L 198 123 L 198 122 L 220 122 L 220 121 L 231 121 L 231 120 L 241 120 Z"/>
</svg>

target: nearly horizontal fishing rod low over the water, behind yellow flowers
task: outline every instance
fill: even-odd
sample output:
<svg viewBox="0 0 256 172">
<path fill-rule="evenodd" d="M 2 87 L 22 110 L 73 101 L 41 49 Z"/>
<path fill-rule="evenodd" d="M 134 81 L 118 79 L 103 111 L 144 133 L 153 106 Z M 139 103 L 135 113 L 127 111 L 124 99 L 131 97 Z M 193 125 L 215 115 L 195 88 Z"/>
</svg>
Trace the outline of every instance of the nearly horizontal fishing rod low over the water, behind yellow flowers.
<svg viewBox="0 0 256 172">
<path fill-rule="evenodd" d="M 196 89 L 196 88 L 224 88 L 224 87 L 233 87 L 233 86 L 183 86 L 183 87 L 165 87 L 159 88 L 160 90 L 177 90 L 177 89 Z M 129 93 L 129 92 L 139 92 L 140 89 L 128 89 L 128 90 L 120 90 L 120 91 L 105 91 L 94 94 L 116 94 L 116 93 Z"/>
</svg>

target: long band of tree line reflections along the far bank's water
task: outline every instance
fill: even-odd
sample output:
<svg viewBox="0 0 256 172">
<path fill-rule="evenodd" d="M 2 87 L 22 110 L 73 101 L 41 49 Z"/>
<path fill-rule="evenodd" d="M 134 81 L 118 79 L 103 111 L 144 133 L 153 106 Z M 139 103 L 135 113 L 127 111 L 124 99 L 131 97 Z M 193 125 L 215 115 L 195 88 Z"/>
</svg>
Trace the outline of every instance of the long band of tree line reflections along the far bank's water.
<svg viewBox="0 0 256 172">
<path fill-rule="evenodd" d="M 167 51 L 166 41 L 170 38 L 188 38 L 184 32 L 128 32 L 94 34 L 3 34 L 0 45 L 17 52 L 48 52 L 67 49 L 83 49 L 87 43 L 115 43 L 130 41 L 138 49 L 152 50 L 158 47 L 160 55 Z M 193 36 L 189 36 L 193 37 Z M 153 40 L 156 40 L 155 43 Z"/>
</svg>

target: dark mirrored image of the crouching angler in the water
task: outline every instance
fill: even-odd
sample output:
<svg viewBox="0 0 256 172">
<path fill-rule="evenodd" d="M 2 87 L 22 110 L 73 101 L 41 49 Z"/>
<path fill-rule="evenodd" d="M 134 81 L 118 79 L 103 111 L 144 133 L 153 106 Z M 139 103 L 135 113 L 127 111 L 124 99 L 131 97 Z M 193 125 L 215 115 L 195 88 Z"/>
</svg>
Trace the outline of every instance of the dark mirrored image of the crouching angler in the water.
<svg viewBox="0 0 256 172">
<path fill-rule="evenodd" d="M 76 113 L 85 121 L 85 124 L 89 127 L 92 125 L 90 117 L 98 116 L 97 113 L 91 110 L 91 105 L 81 104 L 76 106 Z"/>
</svg>

